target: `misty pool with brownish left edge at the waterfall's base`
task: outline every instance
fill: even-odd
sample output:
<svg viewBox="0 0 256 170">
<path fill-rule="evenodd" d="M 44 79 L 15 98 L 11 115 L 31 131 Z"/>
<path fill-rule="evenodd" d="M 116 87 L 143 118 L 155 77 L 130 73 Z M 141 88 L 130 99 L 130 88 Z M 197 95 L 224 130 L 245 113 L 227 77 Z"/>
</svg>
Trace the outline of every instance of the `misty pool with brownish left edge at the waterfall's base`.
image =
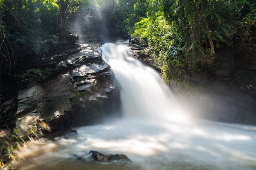
<svg viewBox="0 0 256 170">
<path fill-rule="evenodd" d="M 77 128 L 79 136 L 34 144 L 19 170 L 255 170 L 256 127 L 115 120 Z M 132 163 L 98 163 L 88 152 L 125 154 Z M 76 156 L 75 156 L 76 155 Z M 80 158 L 79 160 L 77 158 Z"/>
</svg>

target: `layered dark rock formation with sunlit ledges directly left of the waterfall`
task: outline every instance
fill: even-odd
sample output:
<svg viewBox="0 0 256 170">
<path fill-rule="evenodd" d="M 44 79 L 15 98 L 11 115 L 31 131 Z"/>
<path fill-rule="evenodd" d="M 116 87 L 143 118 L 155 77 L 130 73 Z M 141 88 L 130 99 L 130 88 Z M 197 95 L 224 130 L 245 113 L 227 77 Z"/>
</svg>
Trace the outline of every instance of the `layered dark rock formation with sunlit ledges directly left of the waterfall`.
<svg viewBox="0 0 256 170">
<path fill-rule="evenodd" d="M 117 111 L 112 108 L 119 108 L 119 84 L 100 46 L 82 44 L 35 63 L 55 69 L 57 76 L 18 93 L 16 127 L 21 132 L 51 138 Z"/>
</svg>

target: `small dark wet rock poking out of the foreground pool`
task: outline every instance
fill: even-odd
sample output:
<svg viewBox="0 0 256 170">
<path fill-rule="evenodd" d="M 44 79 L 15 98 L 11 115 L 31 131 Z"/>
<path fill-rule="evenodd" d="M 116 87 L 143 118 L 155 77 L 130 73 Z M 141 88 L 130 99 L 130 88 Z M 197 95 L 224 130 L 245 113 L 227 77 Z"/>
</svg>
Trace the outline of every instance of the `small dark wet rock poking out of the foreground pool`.
<svg viewBox="0 0 256 170">
<path fill-rule="evenodd" d="M 109 163 L 115 161 L 125 161 L 125 162 L 132 162 L 126 155 L 104 155 L 100 152 L 91 150 L 89 154 L 92 154 L 92 157 L 99 162 Z"/>
</svg>

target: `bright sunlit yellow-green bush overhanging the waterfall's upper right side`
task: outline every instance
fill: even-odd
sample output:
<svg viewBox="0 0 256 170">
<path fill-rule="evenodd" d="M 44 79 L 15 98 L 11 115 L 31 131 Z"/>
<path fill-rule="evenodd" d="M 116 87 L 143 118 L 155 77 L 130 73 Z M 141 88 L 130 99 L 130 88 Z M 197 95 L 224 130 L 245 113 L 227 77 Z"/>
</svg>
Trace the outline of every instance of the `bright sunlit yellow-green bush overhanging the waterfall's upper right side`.
<svg viewBox="0 0 256 170">
<path fill-rule="evenodd" d="M 134 36 L 148 44 L 143 52 L 153 56 L 166 82 L 171 78 L 180 77 L 184 69 L 185 46 L 179 36 L 173 34 L 175 28 L 169 24 L 163 12 L 141 19 L 136 24 Z"/>
</svg>

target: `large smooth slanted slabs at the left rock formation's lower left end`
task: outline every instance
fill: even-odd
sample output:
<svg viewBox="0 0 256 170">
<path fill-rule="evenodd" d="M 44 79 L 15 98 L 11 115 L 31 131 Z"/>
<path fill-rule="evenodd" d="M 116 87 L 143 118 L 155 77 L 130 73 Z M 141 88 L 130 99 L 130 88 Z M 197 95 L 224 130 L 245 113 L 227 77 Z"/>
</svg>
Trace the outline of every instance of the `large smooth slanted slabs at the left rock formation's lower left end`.
<svg viewBox="0 0 256 170">
<path fill-rule="evenodd" d="M 64 133 L 64 122 L 74 115 L 70 101 L 78 100 L 70 77 L 68 73 L 59 75 L 18 94 L 16 127 L 21 132 L 33 130 L 43 136 L 55 130 Z"/>
</svg>

